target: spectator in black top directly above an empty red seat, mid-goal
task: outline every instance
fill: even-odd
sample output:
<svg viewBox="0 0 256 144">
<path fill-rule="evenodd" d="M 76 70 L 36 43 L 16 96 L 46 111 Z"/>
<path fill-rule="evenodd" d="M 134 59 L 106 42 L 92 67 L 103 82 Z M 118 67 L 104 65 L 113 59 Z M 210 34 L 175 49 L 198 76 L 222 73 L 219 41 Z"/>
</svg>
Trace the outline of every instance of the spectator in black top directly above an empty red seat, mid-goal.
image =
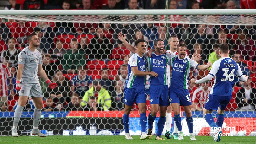
<svg viewBox="0 0 256 144">
<path fill-rule="evenodd" d="M 102 59 L 106 60 L 108 55 L 111 53 L 113 49 L 113 45 L 110 43 L 109 39 L 105 37 L 104 33 L 102 32 L 102 28 L 96 29 L 95 37 L 91 39 L 89 45 L 90 53 L 86 54 L 89 55 L 90 59 Z"/>
</svg>

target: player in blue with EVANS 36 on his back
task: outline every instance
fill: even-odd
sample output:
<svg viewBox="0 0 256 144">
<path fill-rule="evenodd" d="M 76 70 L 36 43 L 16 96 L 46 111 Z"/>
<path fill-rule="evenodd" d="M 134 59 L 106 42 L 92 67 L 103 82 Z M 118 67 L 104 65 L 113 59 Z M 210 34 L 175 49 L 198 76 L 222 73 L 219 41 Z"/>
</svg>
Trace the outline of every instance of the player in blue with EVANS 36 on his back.
<svg viewBox="0 0 256 144">
<path fill-rule="evenodd" d="M 203 114 L 206 122 L 214 129 L 213 139 L 216 142 L 221 141 L 220 134 L 222 133 L 224 111 L 231 100 L 235 75 L 241 81 L 248 79 L 248 76 L 243 75 L 240 66 L 229 58 L 228 44 L 220 44 L 219 51 L 221 58 L 213 63 L 209 74 L 199 80 L 191 79 L 192 84 L 199 84 L 210 81 L 215 76 L 214 84 L 203 108 Z M 212 117 L 213 110 L 218 112 L 217 124 Z"/>
</svg>

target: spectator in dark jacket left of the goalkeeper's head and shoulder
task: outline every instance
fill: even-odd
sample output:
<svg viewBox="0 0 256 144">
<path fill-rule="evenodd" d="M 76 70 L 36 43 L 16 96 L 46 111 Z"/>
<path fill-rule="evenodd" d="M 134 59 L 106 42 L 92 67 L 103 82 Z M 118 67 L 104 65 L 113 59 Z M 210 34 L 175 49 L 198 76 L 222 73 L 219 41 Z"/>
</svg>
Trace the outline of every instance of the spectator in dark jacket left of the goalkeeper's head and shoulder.
<svg viewBox="0 0 256 144">
<path fill-rule="evenodd" d="M 8 49 L 3 51 L 2 55 L 4 57 L 4 60 L 8 63 L 8 66 L 18 66 L 18 54 L 20 53 L 19 50 L 15 48 L 15 45 L 17 44 L 15 38 L 12 38 L 11 40 L 7 40 L 7 46 Z"/>
</svg>

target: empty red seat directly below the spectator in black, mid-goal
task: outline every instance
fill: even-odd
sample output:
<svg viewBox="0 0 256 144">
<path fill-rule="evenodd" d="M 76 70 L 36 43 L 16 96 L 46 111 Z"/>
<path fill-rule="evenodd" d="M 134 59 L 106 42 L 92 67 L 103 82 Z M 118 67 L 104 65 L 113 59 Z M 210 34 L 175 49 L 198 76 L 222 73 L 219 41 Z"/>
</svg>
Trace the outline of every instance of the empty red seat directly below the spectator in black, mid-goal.
<svg viewBox="0 0 256 144">
<path fill-rule="evenodd" d="M 101 70 L 106 68 L 105 62 L 102 60 L 93 60 L 87 62 L 86 74 L 92 76 L 93 79 L 101 79 Z"/>
</svg>

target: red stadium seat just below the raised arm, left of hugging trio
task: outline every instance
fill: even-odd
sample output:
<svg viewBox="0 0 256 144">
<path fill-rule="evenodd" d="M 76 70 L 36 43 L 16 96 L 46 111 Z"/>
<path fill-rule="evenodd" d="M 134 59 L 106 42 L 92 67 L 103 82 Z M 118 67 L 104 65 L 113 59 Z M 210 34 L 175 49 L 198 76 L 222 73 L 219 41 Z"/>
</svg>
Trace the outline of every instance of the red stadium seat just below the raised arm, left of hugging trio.
<svg viewBox="0 0 256 144">
<path fill-rule="evenodd" d="M 109 58 L 120 60 L 129 54 L 130 54 L 130 51 L 126 47 L 121 47 L 121 48 L 116 47 L 112 50 L 112 54 L 109 56 Z"/>
</svg>

